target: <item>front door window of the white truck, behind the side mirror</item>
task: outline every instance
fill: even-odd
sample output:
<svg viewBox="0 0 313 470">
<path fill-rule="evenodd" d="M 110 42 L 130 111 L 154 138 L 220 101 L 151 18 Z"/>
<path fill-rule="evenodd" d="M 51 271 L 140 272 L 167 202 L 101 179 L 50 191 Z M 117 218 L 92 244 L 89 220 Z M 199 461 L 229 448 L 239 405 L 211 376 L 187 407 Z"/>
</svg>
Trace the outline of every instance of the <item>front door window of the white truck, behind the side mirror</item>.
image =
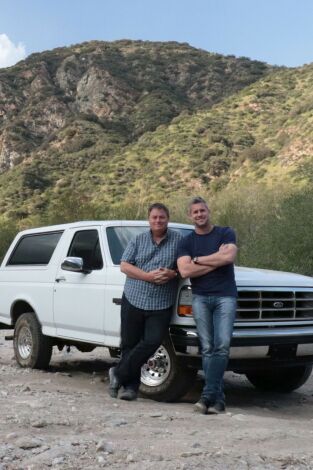
<svg viewBox="0 0 313 470">
<path fill-rule="evenodd" d="M 81 230 L 76 232 L 67 256 L 83 258 L 86 269 L 102 269 L 103 260 L 97 230 Z"/>
</svg>

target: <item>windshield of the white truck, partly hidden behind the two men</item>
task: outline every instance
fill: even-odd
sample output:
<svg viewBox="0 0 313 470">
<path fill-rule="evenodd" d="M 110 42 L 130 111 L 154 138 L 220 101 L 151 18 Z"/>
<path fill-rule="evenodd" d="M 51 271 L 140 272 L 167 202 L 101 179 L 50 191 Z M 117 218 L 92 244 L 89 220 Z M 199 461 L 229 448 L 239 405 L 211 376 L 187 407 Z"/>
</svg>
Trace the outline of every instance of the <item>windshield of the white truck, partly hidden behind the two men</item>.
<svg viewBox="0 0 313 470">
<path fill-rule="evenodd" d="M 107 227 L 107 239 L 110 249 L 111 258 L 114 264 L 120 264 L 122 254 L 128 242 L 142 232 L 146 232 L 147 226 L 132 227 Z M 188 235 L 192 229 L 171 227 L 171 230 L 181 233 L 183 236 Z"/>
</svg>

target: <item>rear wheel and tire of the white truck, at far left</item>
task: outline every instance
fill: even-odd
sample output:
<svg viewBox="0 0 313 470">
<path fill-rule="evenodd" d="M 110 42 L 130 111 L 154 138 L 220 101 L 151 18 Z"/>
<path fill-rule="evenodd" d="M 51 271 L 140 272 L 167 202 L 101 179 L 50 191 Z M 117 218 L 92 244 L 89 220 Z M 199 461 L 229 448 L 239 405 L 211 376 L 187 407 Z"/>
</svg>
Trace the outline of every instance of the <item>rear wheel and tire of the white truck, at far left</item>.
<svg viewBox="0 0 313 470">
<path fill-rule="evenodd" d="M 41 332 L 41 326 L 33 313 L 23 313 L 15 324 L 13 347 L 17 363 L 21 367 L 46 369 L 52 354 L 52 341 Z"/>
</svg>

